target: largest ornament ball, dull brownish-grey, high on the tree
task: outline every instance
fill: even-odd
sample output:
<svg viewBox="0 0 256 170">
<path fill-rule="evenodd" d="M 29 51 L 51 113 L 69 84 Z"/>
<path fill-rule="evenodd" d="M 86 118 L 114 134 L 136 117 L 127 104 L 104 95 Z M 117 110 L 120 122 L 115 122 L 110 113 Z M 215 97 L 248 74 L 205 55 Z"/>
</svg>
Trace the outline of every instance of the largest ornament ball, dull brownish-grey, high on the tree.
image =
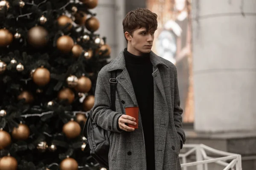
<svg viewBox="0 0 256 170">
<path fill-rule="evenodd" d="M 35 48 L 41 48 L 47 45 L 48 31 L 42 26 L 35 26 L 28 31 L 28 42 Z"/>
</svg>

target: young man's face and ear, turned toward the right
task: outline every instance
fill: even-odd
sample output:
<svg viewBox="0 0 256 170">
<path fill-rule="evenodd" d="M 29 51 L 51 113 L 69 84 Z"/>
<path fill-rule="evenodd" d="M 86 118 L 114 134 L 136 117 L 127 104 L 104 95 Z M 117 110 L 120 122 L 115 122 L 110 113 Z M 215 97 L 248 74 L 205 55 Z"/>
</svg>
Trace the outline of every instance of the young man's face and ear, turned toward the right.
<svg viewBox="0 0 256 170">
<path fill-rule="evenodd" d="M 143 53 L 149 53 L 154 41 L 154 31 L 146 31 L 146 28 L 139 28 L 134 30 L 132 36 L 125 32 L 125 37 L 128 40 L 127 50 L 134 55 L 142 55 Z"/>
</svg>

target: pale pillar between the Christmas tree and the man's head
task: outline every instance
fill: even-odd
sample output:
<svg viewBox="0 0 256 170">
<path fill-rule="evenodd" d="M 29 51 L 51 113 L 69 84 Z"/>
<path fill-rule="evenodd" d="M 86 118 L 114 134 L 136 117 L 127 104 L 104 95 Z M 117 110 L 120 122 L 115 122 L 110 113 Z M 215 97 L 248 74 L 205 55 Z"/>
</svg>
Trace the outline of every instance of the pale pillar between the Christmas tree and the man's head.
<svg viewBox="0 0 256 170">
<path fill-rule="evenodd" d="M 111 59 L 119 54 L 120 49 L 125 48 L 124 37 L 120 37 L 120 19 L 125 15 L 124 6 L 124 0 L 99 0 L 98 6 L 90 10 L 99 19 L 100 27 L 96 34 L 106 37 L 108 45 L 111 46 Z"/>
</svg>

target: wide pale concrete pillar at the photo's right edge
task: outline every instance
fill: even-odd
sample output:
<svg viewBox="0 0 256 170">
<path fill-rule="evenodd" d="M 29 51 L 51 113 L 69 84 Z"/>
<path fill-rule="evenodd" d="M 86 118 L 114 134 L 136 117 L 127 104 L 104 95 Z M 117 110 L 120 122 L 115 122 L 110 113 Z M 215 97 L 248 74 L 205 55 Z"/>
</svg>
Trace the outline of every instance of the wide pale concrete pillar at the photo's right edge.
<svg viewBox="0 0 256 170">
<path fill-rule="evenodd" d="M 256 1 L 192 0 L 195 130 L 256 129 Z"/>
</svg>

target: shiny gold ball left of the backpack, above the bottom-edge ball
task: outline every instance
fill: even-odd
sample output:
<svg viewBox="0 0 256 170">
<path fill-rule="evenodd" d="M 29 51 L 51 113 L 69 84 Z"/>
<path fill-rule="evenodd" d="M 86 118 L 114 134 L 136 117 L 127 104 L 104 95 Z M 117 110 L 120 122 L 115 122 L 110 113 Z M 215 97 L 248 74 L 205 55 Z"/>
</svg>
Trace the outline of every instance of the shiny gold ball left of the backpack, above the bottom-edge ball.
<svg viewBox="0 0 256 170">
<path fill-rule="evenodd" d="M 78 124 L 78 122 L 75 121 L 69 121 L 62 127 L 63 133 L 67 136 L 69 139 L 76 138 L 81 133 L 81 127 Z"/>
</svg>

